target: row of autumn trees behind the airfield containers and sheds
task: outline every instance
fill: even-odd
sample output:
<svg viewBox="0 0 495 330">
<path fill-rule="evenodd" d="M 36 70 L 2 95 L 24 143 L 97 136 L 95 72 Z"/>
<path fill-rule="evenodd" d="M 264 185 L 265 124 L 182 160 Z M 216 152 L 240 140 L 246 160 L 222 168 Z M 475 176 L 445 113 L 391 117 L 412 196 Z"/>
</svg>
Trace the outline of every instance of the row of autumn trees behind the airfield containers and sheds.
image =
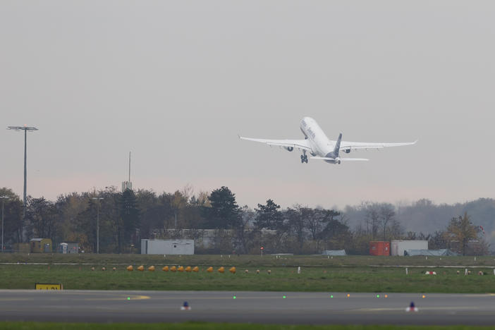
<svg viewBox="0 0 495 330">
<path fill-rule="evenodd" d="M 443 228 L 432 233 L 406 231 L 403 209 L 389 203 L 362 203 L 339 211 L 299 204 L 282 209 L 269 199 L 251 209 L 240 207 L 227 187 L 197 194 L 190 186 L 161 194 L 110 187 L 60 195 L 54 202 L 27 197 L 23 219 L 20 197 L 8 188 L 1 188 L 0 195 L 9 197 L 4 200 L 7 250 L 31 238 L 51 238 L 55 244 L 77 241 L 85 252 L 96 252 L 99 236 L 100 253 L 133 253 L 140 252 L 143 238 L 198 238 L 205 229 L 214 229 L 214 238 L 196 252 L 254 254 L 264 247 L 269 253 L 346 250 L 366 255 L 370 240 L 396 239 L 429 240 L 430 248 L 463 255 L 489 250 L 483 227 L 473 224 L 467 213 L 443 219 Z"/>
</svg>

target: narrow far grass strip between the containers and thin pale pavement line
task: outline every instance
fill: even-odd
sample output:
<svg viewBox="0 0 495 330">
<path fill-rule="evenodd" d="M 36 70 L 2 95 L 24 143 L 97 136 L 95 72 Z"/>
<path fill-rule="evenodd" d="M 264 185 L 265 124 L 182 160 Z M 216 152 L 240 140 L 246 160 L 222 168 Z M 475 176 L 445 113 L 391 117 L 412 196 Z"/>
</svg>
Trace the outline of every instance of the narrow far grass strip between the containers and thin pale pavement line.
<svg viewBox="0 0 495 330">
<path fill-rule="evenodd" d="M 75 264 L 194 264 L 197 266 L 236 267 L 367 267 L 377 266 L 458 266 L 495 267 L 495 257 L 325 257 L 322 255 L 62 255 L 42 253 L 0 253 L 0 263 L 75 263 Z"/>
</svg>

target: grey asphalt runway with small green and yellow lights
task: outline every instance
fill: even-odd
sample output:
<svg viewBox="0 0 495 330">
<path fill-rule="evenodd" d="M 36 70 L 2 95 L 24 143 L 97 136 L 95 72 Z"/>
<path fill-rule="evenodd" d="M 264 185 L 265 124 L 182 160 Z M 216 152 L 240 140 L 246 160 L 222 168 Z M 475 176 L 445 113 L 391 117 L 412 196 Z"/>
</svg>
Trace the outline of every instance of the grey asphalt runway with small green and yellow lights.
<svg viewBox="0 0 495 330">
<path fill-rule="evenodd" d="M 191 310 L 181 310 L 185 301 Z M 405 312 L 411 301 L 418 312 Z M 1 290 L 0 319 L 494 325 L 495 295 L 425 294 L 422 298 L 420 293 L 380 293 L 377 297 L 376 293 Z"/>
</svg>

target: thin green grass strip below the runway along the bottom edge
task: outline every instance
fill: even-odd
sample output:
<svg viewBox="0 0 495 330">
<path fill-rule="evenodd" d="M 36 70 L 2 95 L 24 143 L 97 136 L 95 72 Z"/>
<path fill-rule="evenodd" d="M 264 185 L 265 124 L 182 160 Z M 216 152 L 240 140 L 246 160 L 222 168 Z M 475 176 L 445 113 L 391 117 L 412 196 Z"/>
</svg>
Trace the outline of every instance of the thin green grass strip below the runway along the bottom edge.
<svg viewBox="0 0 495 330">
<path fill-rule="evenodd" d="M 0 322 L 0 328 L 25 329 L 25 330 L 135 330 L 135 329 L 167 329 L 167 330 L 202 330 L 202 329 L 236 329 L 236 330 L 489 330 L 495 329 L 495 326 L 393 326 L 393 325 L 280 325 L 280 324 L 231 324 L 231 323 L 211 323 L 211 322 L 185 322 L 185 323 L 151 323 L 151 324 L 133 324 L 133 323 L 114 323 L 114 324 L 92 324 L 92 323 L 59 323 L 59 322 Z"/>
</svg>

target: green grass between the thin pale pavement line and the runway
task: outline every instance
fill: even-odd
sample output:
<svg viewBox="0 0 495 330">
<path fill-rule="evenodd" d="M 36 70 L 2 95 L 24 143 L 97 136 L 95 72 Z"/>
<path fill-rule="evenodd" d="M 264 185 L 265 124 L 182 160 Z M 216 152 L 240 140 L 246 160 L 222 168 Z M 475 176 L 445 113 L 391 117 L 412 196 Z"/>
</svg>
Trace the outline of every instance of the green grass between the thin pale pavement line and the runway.
<svg viewBox="0 0 495 330">
<path fill-rule="evenodd" d="M 188 264 L 183 264 L 188 266 Z M 195 266 L 195 264 L 190 264 Z M 149 265 L 145 265 L 147 268 Z M 495 293 L 494 276 L 457 275 L 456 269 L 433 269 L 437 276 L 424 275 L 426 269 L 410 269 L 405 275 L 398 267 L 244 267 L 226 273 L 161 271 L 116 271 L 101 265 L 0 265 L 0 288 L 30 289 L 35 283 L 63 283 L 65 289 L 77 290 L 195 290 L 195 291 L 326 291 L 326 292 L 423 292 L 423 293 Z M 110 270 L 108 270 L 110 269 Z M 256 269 L 260 274 L 256 274 Z M 478 270 L 478 269 L 477 269 Z M 487 274 L 491 269 L 482 269 Z"/>
</svg>

